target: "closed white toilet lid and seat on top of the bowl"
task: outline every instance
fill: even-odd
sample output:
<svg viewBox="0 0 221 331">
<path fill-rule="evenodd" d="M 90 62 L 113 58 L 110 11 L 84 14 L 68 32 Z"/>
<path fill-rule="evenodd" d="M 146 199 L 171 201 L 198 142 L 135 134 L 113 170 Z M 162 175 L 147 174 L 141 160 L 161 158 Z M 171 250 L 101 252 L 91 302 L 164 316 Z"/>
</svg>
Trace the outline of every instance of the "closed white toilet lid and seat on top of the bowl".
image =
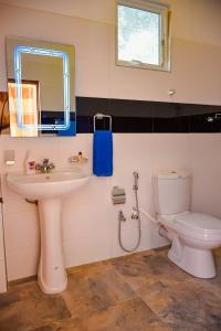
<svg viewBox="0 0 221 331">
<path fill-rule="evenodd" d="M 188 213 L 175 217 L 173 225 L 180 233 L 204 241 L 221 239 L 221 220 L 206 214 Z"/>
</svg>

